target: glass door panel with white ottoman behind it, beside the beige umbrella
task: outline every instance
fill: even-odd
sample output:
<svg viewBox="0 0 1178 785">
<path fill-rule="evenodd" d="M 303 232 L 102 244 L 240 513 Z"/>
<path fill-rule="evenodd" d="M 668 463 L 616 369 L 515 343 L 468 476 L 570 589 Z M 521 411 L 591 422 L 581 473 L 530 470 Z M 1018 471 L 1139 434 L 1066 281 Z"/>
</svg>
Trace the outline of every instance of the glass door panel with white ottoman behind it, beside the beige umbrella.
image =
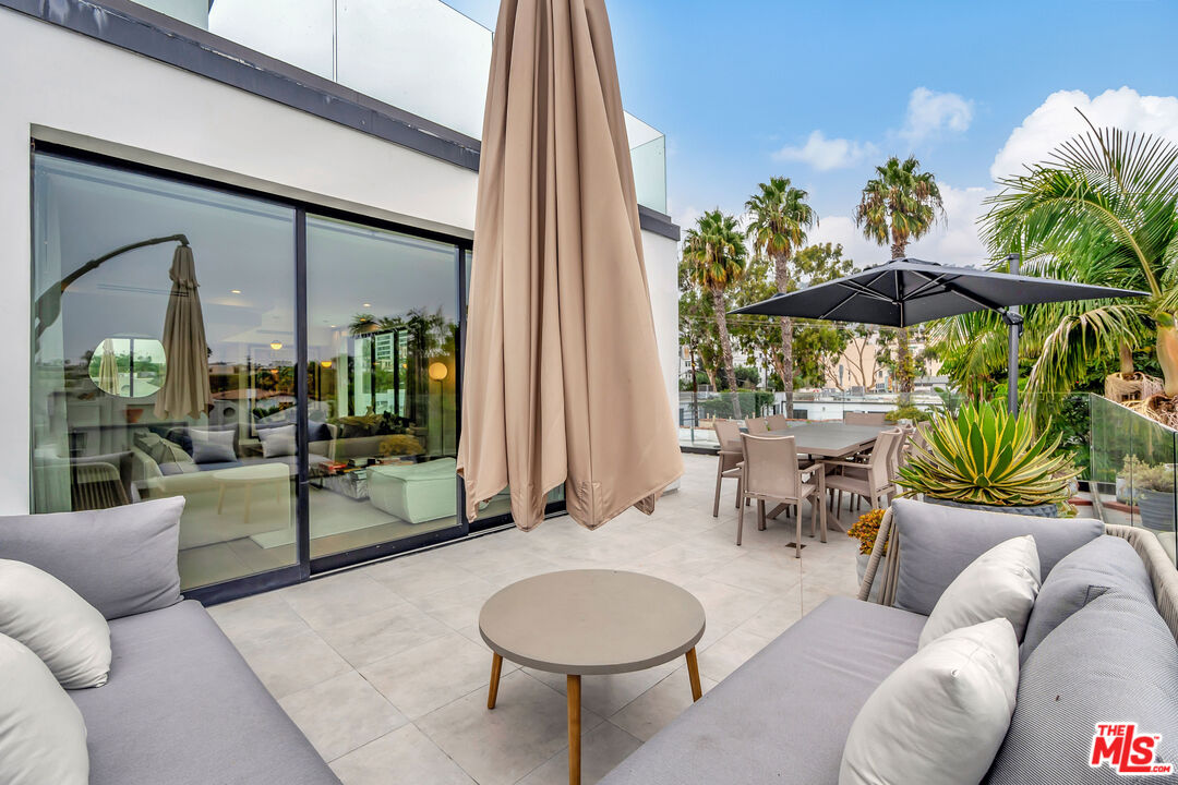
<svg viewBox="0 0 1178 785">
<path fill-rule="evenodd" d="M 452 531 L 454 245 L 307 217 L 311 557 Z"/>
</svg>

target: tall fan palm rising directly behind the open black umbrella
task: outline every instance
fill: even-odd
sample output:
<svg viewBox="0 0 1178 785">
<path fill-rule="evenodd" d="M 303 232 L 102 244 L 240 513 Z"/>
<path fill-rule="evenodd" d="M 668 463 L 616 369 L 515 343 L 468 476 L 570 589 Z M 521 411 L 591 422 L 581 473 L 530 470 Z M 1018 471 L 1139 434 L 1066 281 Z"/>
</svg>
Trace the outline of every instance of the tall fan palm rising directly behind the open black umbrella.
<svg viewBox="0 0 1178 785">
<path fill-rule="evenodd" d="M 941 189 L 932 172 L 921 172 L 920 161 L 909 155 L 901 161 L 893 155 L 884 166 L 875 167 L 875 177 L 867 181 L 855 207 L 855 225 L 863 237 L 878 245 L 892 246 L 892 258 L 902 259 L 908 244 L 919 240 L 933 228 L 938 215 L 944 215 Z M 908 331 L 896 331 L 896 381 L 900 384 L 900 405 L 912 395 L 915 370 L 908 350 Z"/>
</svg>

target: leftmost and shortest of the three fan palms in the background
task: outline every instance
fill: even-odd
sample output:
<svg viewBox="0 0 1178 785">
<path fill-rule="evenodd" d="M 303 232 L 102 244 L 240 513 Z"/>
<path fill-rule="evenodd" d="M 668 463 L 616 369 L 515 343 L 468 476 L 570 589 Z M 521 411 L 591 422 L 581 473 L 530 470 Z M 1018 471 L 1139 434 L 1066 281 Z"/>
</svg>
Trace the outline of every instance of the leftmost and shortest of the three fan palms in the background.
<svg viewBox="0 0 1178 785">
<path fill-rule="evenodd" d="M 694 228 L 683 238 L 683 259 L 690 264 L 691 279 L 712 293 L 716 328 L 720 331 L 720 347 L 724 359 L 724 375 L 732 391 L 733 415 L 737 419 L 740 394 L 736 391 L 736 371 L 733 367 L 733 345 L 724 318 L 724 290 L 744 273 L 744 238 L 736 226 L 736 219 L 713 209 L 700 217 Z"/>
</svg>

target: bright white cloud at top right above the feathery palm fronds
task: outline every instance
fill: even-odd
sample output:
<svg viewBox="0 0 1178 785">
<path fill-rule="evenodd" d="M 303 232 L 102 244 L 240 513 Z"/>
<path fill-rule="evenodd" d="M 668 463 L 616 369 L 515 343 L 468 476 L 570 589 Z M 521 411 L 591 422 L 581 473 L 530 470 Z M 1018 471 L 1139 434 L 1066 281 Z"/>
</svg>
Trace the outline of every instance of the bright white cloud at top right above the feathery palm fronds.
<svg viewBox="0 0 1178 785">
<path fill-rule="evenodd" d="M 990 167 L 993 178 L 1021 174 L 1026 166 L 1046 160 L 1059 144 L 1088 131 L 1083 112 L 1098 128 L 1114 126 L 1178 142 L 1178 98 L 1140 95 L 1129 87 L 1105 91 L 1096 98 L 1081 91 L 1059 91 L 1047 97 L 1015 128 Z"/>
</svg>

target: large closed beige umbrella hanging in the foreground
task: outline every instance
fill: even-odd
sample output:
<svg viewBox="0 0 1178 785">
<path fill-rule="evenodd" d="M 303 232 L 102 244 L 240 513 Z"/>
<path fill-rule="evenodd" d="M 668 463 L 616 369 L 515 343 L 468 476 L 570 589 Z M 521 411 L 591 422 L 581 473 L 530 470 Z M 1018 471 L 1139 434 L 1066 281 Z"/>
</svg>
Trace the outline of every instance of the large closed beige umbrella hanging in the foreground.
<svg viewBox="0 0 1178 785">
<path fill-rule="evenodd" d="M 517 526 L 596 528 L 683 472 L 602 0 L 503 0 L 483 119 L 458 471 Z"/>
</svg>

